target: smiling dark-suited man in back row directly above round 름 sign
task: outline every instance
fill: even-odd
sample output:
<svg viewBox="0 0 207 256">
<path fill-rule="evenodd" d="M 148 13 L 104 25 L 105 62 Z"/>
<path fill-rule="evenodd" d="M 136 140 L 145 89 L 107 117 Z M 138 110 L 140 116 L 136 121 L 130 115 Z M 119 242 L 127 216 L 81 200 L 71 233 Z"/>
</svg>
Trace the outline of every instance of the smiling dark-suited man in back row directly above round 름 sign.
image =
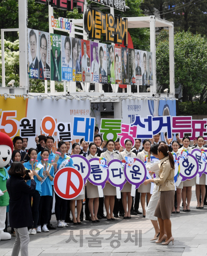
<svg viewBox="0 0 207 256">
<path fill-rule="evenodd" d="M 97 147 L 97 155 L 100 157 L 100 154 L 102 152 L 105 152 L 107 149 L 104 148 L 104 146 L 106 145 L 107 141 L 104 140 L 102 142 L 101 140 L 101 135 L 100 134 L 96 134 L 94 136 L 94 143 Z M 104 197 L 99 197 L 99 210 L 98 210 L 98 214 L 97 214 L 97 218 L 98 219 L 105 219 L 106 216 L 104 215 Z"/>
</svg>

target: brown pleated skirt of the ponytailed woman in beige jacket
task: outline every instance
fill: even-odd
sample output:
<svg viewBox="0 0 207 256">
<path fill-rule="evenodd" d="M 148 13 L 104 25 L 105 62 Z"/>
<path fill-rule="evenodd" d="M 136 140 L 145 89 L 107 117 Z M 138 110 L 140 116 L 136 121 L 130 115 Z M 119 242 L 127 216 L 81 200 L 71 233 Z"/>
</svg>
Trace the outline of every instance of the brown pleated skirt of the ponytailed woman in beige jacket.
<svg viewBox="0 0 207 256">
<path fill-rule="evenodd" d="M 172 208 L 174 206 L 175 190 L 161 191 L 154 216 L 162 220 L 170 219 Z"/>
</svg>

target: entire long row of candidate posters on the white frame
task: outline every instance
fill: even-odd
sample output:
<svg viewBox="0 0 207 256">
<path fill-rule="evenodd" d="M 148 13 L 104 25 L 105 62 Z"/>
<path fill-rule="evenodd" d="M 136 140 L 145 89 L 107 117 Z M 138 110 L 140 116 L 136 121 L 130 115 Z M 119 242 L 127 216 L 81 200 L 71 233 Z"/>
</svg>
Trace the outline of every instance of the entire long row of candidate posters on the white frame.
<svg viewBox="0 0 207 256">
<path fill-rule="evenodd" d="M 153 85 L 152 53 L 28 28 L 29 78 Z"/>
</svg>

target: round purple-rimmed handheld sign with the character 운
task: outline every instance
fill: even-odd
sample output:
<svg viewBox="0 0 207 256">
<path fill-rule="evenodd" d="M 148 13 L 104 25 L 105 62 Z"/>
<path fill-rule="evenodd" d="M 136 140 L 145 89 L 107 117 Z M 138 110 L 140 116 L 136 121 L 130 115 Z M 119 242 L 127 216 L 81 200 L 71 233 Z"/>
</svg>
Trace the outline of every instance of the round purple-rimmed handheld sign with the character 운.
<svg viewBox="0 0 207 256">
<path fill-rule="evenodd" d="M 131 183 L 131 196 L 135 197 L 135 191 L 145 181 L 147 170 L 145 164 L 137 158 L 125 157 L 124 175 Z"/>
</svg>

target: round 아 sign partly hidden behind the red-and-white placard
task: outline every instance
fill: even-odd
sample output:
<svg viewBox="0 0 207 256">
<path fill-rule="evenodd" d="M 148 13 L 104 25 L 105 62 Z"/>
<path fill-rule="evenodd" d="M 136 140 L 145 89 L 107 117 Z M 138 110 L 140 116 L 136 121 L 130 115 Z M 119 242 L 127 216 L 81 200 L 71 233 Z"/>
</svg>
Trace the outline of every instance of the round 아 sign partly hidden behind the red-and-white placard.
<svg viewBox="0 0 207 256">
<path fill-rule="evenodd" d="M 73 161 L 74 168 L 81 173 L 81 175 L 84 179 L 84 184 L 85 184 L 87 178 L 90 175 L 89 161 L 82 155 L 71 155 L 71 158 Z"/>
</svg>

